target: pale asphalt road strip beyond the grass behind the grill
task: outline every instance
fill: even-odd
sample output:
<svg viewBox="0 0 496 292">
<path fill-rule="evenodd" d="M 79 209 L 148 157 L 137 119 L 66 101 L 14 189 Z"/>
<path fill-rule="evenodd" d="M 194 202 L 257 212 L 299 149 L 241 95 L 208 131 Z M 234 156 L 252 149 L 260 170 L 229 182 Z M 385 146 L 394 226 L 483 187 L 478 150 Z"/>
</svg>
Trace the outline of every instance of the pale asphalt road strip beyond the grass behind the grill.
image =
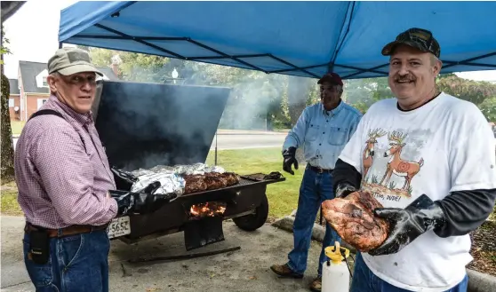
<svg viewBox="0 0 496 292">
<path fill-rule="evenodd" d="M 220 133 L 217 136 L 217 150 L 282 147 L 285 137 L 284 133 Z M 14 138 L 14 150 L 16 143 L 17 138 Z M 215 149 L 215 137 L 211 149 Z"/>
</svg>

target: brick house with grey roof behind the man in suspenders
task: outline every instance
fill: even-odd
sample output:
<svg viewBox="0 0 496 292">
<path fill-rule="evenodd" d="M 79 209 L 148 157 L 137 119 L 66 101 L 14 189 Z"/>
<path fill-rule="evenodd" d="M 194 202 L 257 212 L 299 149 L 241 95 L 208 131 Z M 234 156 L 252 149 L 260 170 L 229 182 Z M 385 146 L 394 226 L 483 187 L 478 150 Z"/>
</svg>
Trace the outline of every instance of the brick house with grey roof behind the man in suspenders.
<svg viewBox="0 0 496 292">
<path fill-rule="evenodd" d="M 99 67 L 104 79 L 119 80 L 116 67 Z M 11 86 L 9 112 L 11 121 L 28 121 L 49 98 L 50 91 L 46 83 L 47 64 L 20 61 L 18 79 L 9 79 Z"/>
</svg>

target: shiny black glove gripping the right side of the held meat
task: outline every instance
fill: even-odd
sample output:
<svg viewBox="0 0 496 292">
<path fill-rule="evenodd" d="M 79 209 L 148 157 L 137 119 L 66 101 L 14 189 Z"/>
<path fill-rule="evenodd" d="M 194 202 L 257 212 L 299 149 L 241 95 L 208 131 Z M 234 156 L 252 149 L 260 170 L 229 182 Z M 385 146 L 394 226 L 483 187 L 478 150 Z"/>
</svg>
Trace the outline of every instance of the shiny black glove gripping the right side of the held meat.
<svg viewBox="0 0 496 292">
<path fill-rule="evenodd" d="M 439 205 L 422 194 L 406 209 L 378 208 L 374 214 L 390 224 L 386 241 L 379 248 L 368 252 L 371 256 L 395 254 L 420 234 L 444 225 L 444 212 Z"/>
</svg>

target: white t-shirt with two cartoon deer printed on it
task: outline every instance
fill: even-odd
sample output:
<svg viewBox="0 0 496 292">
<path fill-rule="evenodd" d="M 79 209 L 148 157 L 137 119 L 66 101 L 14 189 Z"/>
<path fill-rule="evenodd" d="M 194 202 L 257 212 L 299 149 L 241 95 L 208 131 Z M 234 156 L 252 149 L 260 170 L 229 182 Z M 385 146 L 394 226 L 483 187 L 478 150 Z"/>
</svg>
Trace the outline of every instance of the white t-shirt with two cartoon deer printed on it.
<svg viewBox="0 0 496 292">
<path fill-rule="evenodd" d="M 406 112 L 396 99 L 375 103 L 340 159 L 362 173 L 362 188 L 386 208 L 405 208 L 422 193 L 436 201 L 453 191 L 496 188 L 488 122 L 474 104 L 444 92 Z M 441 238 L 428 231 L 396 254 L 363 257 L 391 285 L 444 291 L 465 277 L 470 245 L 468 234 Z"/>
</svg>

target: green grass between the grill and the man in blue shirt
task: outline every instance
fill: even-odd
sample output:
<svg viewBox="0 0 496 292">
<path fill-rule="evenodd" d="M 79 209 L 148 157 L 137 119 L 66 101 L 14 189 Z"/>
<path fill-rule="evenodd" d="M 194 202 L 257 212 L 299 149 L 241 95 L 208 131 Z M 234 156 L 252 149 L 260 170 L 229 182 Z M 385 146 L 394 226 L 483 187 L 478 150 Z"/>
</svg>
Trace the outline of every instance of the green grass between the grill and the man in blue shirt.
<svg viewBox="0 0 496 292">
<path fill-rule="evenodd" d="M 206 163 L 214 164 L 214 152 L 207 157 Z M 295 170 L 294 176 L 283 172 L 283 156 L 280 148 L 259 148 L 244 150 L 222 150 L 217 153 L 217 164 L 225 170 L 238 174 L 270 173 L 279 171 L 286 178 L 285 181 L 267 186 L 269 217 L 283 217 L 290 215 L 298 206 L 303 170 Z"/>
</svg>

